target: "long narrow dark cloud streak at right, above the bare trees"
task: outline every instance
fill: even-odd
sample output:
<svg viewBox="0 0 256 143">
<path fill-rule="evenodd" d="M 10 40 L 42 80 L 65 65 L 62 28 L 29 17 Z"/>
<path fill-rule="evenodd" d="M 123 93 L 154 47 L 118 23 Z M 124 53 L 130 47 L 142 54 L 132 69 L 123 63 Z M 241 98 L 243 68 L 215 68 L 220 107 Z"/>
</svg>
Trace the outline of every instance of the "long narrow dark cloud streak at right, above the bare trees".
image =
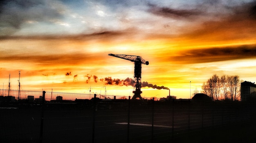
<svg viewBox="0 0 256 143">
<path fill-rule="evenodd" d="M 179 56 L 170 56 L 168 57 L 168 59 L 171 61 L 175 61 L 175 63 L 208 63 L 242 58 L 255 58 L 256 45 L 194 49 L 184 51 L 179 54 Z"/>
</svg>

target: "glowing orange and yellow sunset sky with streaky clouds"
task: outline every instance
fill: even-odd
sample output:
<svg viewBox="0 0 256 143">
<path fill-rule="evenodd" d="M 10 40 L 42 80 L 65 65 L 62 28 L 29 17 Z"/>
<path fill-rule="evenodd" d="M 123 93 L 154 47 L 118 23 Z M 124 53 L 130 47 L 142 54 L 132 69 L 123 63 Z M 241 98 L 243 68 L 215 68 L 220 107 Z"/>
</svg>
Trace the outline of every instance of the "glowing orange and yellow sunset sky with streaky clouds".
<svg viewBox="0 0 256 143">
<path fill-rule="evenodd" d="M 255 33 L 255 0 L 3 0 L 0 83 L 132 96 L 134 63 L 108 56 L 126 54 L 149 61 L 142 82 L 190 98 L 213 74 L 255 82 Z M 141 96 L 169 95 L 152 87 Z"/>
</svg>

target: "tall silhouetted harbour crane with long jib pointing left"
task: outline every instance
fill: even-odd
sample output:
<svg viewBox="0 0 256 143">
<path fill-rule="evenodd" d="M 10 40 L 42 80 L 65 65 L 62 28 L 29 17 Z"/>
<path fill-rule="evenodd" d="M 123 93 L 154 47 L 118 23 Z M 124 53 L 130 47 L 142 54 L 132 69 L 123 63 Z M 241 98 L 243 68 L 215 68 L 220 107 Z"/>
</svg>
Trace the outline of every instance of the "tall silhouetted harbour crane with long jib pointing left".
<svg viewBox="0 0 256 143">
<path fill-rule="evenodd" d="M 125 55 L 125 54 L 108 54 L 109 56 L 115 56 L 117 58 L 123 58 L 125 60 L 129 60 L 134 62 L 134 84 L 135 90 L 132 91 L 134 95 L 132 96 L 132 99 L 142 99 L 141 98 L 141 64 L 148 65 L 148 61 L 145 61 L 141 56 L 132 56 L 132 55 Z"/>
</svg>

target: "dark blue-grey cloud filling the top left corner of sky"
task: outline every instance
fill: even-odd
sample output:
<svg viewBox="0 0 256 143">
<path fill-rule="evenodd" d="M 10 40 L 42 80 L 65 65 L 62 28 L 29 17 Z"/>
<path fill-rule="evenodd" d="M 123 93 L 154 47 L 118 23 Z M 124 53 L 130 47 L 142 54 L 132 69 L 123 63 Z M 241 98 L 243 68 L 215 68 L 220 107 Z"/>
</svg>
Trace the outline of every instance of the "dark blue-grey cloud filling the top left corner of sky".
<svg viewBox="0 0 256 143">
<path fill-rule="evenodd" d="M 47 0 L 10 0 L 1 2 L 1 35 L 9 35 L 10 31 L 19 30 L 20 26 L 27 21 L 50 22 L 51 20 L 62 18 L 62 11 L 65 11 L 65 9 L 61 4 L 54 4 Z"/>
</svg>

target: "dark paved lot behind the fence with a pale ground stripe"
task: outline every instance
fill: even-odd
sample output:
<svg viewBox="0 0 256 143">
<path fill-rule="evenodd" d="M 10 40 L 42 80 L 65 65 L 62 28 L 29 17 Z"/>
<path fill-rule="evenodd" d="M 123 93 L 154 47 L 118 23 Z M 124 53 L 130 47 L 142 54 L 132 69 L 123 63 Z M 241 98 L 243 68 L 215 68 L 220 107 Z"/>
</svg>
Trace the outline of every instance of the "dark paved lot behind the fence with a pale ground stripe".
<svg viewBox="0 0 256 143">
<path fill-rule="evenodd" d="M 98 104 L 95 112 L 95 143 L 211 142 L 214 139 L 211 139 L 212 136 L 209 134 L 216 137 L 226 134 L 232 138 L 231 134 L 225 132 L 238 133 L 247 129 L 251 131 L 247 131 L 247 134 L 237 134 L 236 138 L 240 139 L 239 141 L 254 140 L 250 136 L 250 133 L 255 133 L 252 128 L 254 125 L 247 127 L 255 117 L 253 108 L 247 111 L 247 108 L 215 106 L 214 110 L 211 110 L 211 106 L 179 103 L 155 104 L 153 110 L 152 104 L 135 104 L 130 107 L 128 132 L 126 105 L 111 105 L 110 108 L 108 105 Z M 45 107 L 43 113 L 43 143 L 92 143 L 91 108 L 49 105 Z M 41 117 L 40 106 L 0 108 L 0 142 L 39 143 Z M 232 126 L 236 128 L 230 128 Z M 246 135 L 249 137 L 245 137 Z"/>
</svg>

